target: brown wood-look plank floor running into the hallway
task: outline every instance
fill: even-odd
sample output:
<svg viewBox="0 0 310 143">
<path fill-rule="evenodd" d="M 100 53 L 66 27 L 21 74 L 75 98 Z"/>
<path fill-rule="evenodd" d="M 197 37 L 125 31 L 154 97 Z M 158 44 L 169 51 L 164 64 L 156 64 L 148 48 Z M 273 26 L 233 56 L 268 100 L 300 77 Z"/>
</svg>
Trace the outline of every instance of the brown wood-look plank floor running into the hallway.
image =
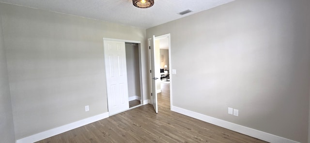
<svg viewBox="0 0 310 143">
<path fill-rule="evenodd" d="M 267 143 L 170 111 L 169 84 L 161 84 L 158 114 L 151 104 L 37 143 Z"/>
</svg>

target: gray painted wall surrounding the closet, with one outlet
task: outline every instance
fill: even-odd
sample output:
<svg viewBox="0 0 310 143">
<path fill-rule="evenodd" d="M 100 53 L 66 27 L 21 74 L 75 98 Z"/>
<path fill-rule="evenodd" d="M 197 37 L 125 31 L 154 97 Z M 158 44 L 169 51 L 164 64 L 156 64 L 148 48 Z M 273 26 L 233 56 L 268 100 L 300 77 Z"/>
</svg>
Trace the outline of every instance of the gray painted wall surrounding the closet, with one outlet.
<svg viewBox="0 0 310 143">
<path fill-rule="evenodd" d="M 104 37 L 141 41 L 148 99 L 145 29 L 5 3 L 0 13 L 16 140 L 108 112 Z"/>
</svg>

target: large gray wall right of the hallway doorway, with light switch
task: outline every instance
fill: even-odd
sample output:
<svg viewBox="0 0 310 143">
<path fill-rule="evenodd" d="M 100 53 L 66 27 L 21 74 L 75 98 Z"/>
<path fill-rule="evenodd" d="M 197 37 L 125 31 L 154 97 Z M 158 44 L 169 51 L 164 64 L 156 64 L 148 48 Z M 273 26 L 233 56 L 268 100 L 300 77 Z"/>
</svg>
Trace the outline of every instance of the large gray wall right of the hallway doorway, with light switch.
<svg viewBox="0 0 310 143">
<path fill-rule="evenodd" d="M 147 29 L 171 33 L 173 106 L 306 143 L 309 2 L 236 0 Z"/>
</svg>

